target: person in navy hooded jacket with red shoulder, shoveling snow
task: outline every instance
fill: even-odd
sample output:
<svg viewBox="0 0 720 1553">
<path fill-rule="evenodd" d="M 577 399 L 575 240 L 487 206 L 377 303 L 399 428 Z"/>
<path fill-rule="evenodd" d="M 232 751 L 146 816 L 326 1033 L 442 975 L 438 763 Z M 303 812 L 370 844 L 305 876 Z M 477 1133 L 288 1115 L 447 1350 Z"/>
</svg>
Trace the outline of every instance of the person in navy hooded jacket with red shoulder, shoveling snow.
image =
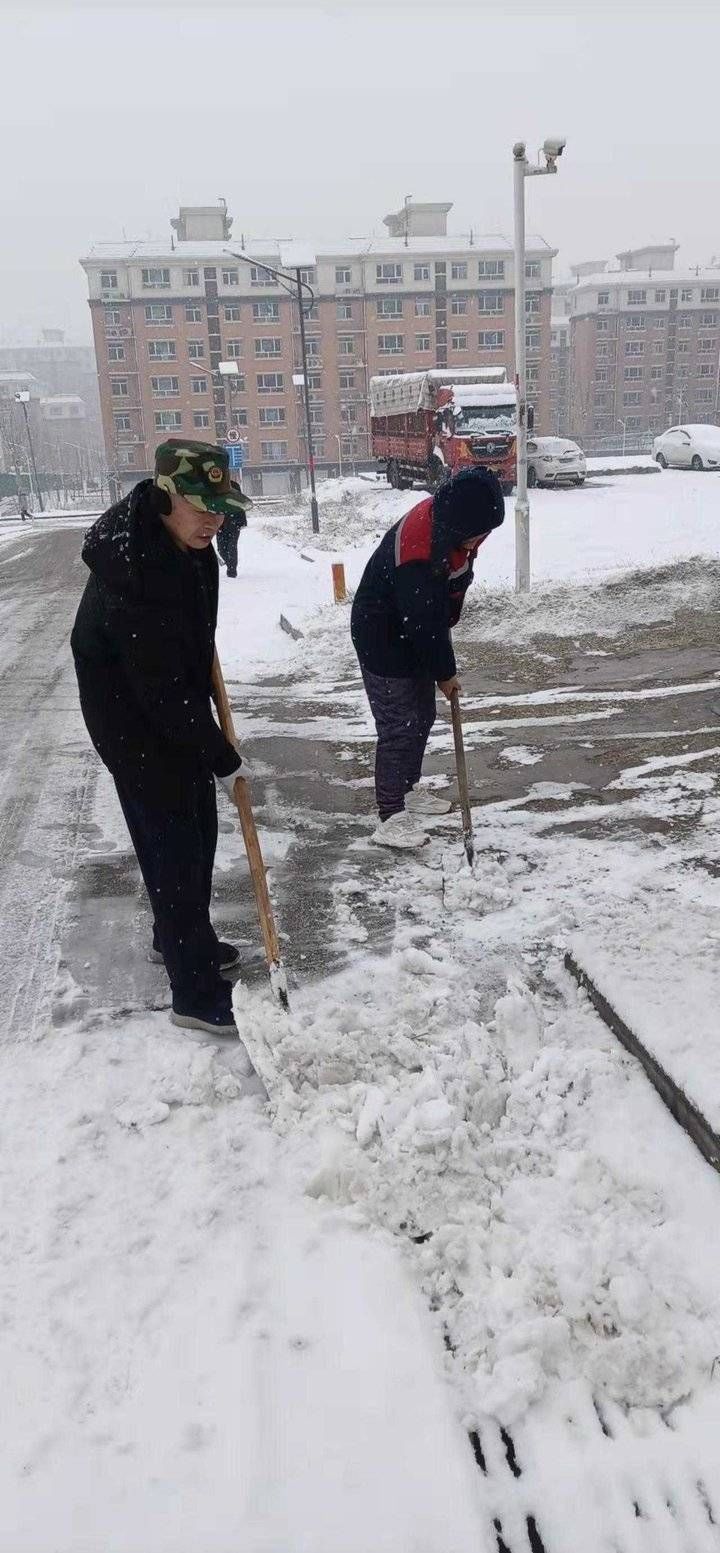
<svg viewBox="0 0 720 1553">
<path fill-rule="evenodd" d="M 434 722 L 436 685 L 459 691 L 452 627 L 478 547 L 504 519 L 500 481 L 464 469 L 388 530 L 352 604 L 352 641 L 377 728 L 376 798 L 382 846 L 422 846 L 422 815 L 450 804 L 417 790 Z"/>
</svg>

